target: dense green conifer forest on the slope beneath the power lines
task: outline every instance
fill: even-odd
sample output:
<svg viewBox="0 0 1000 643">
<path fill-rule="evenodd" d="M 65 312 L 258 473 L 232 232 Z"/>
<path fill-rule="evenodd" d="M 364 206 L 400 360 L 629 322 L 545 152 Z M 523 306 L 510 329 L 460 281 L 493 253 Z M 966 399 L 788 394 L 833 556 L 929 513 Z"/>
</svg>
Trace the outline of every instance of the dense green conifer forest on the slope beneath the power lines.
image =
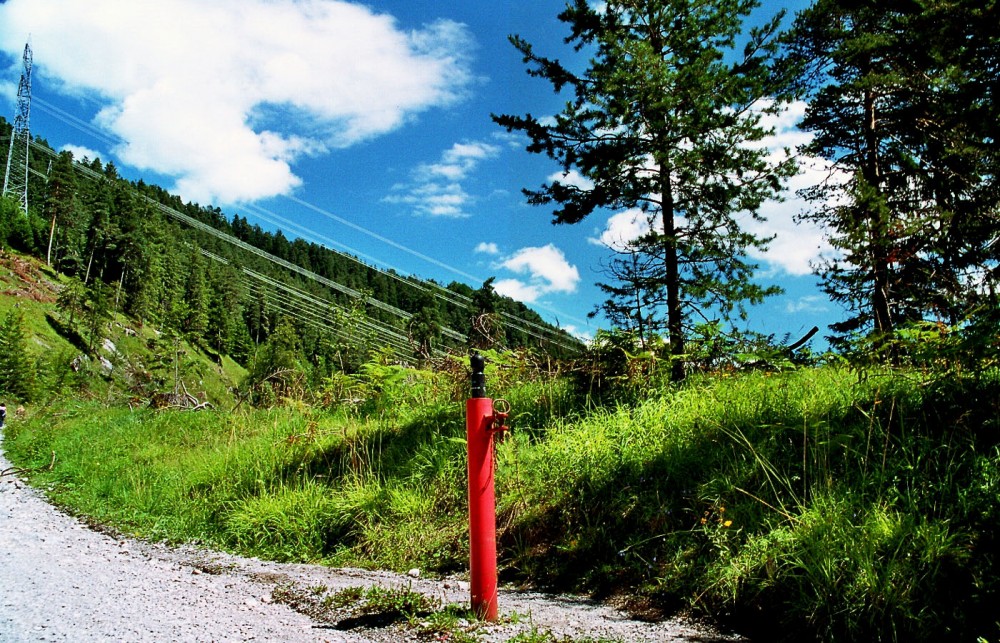
<svg viewBox="0 0 1000 643">
<path fill-rule="evenodd" d="M 387 343 L 405 364 L 439 357 L 461 334 L 473 335 L 464 303 L 473 293 L 464 284 L 440 288 L 301 239 L 289 241 L 241 217 L 229 221 L 218 208 L 185 204 L 142 181 L 129 183 L 110 163 L 76 162 L 71 153 L 37 142 L 32 177 L 48 180 L 29 182 L 33 207 L 27 214 L 15 201 L 0 203 L 0 245 L 45 257 L 75 280 L 62 290 L 63 317 L 52 318 L 53 327 L 92 357 L 109 336 L 112 315 L 123 313 L 140 328 L 169 335 L 170 341 L 156 344 L 171 354 L 173 340 L 183 337 L 219 365 L 231 357 L 248 366 L 243 393 L 266 405 L 310 397 L 334 372 L 358 375 L 371 351 Z M 225 238 L 231 243 L 217 232 L 231 235 Z M 261 251 L 300 270 L 290 275 Z M 546 350 L 579 345 L 523 304 L 495 296 L 492 306 L 497 319 L 520 318 L 562 344 L 545 342 Z M 507 345 L 535 341 L 521 328 L 497 328 L 498 341 L 503 336 Z M 287 349 L 290 333 L 297 336 L 294 355 Z M 276 334 L 281 337 L 267 344 Z M 166 357 L 150 361 L 162 366 Z M 134 373 L 144 365 L 128 368 Z M 175 385 L 181 380 L 173 379 Z"/>
</svg>

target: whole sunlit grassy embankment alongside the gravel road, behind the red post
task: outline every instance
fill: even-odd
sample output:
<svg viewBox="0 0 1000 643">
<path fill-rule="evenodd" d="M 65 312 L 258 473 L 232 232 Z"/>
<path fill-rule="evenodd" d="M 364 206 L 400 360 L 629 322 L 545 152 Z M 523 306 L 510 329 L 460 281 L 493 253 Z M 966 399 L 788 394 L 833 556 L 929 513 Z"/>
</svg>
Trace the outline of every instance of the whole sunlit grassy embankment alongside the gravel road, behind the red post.
<svg viewBox="0 0 1000 643">
<path fill-rule="evenodd" d="M 751 634 L 763 622 L 766 640 L 995 640 L 996 377 L 828 367 L 588 407 L 565 380 L 518 373 L 490 383 L 514 408 L 497 458 L 503 579 Z M 463 383 L 368 378 L 368 402 L 336 412 L 63 400 L 9 427 L 6 448 L 58 502 L 140 536 L 463 570 Z"/>
</svg>

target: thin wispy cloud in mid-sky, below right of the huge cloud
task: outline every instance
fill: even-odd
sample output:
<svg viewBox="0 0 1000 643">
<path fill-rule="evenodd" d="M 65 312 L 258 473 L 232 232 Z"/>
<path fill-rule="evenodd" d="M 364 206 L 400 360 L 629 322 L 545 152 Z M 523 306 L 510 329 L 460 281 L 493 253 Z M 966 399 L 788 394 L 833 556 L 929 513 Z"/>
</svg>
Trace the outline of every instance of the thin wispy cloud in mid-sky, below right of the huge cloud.
<svg viewBox="0 0 1000 643">
<path fill-rule="evenodd" d="M 410 183 L 397 185 L 386 203 L 405 204 L 416 214 L 431 217 L 468 217 L 467 206 L 474 201 L 462 181 L 485 160 L 495 158 L 500 148 L 483 142 L 455 143 L 436 163 L 418 165 Z"/>
</svg>

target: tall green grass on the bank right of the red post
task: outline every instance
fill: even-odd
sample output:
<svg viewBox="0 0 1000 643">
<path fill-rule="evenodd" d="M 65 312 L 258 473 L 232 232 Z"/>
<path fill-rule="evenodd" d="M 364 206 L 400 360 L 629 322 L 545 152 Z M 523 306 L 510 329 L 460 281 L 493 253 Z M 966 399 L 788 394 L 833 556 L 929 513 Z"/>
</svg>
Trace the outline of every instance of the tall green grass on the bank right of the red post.
<svg viewBox="0 0 1000 643">
<path fill-rule="evenodd" d="M 599 410 L 510 445 L 508 564 L 744 626 L 768 614 L 768 640 L 996 632 L 968 607 L 997 597 L 995 417 L 964 408 L 905 375 L 821 369 Z"/>
</svg>

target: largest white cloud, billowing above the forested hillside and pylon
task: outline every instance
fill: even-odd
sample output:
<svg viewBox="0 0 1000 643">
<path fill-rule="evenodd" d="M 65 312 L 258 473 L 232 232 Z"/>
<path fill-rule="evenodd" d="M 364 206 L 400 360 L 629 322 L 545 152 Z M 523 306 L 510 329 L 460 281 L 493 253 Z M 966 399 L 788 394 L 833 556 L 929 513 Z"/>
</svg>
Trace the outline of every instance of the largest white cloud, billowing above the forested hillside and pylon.
<svg viewBox="0 0 1000 643">
<path fill-rule="evenodd" d="M 460 99 L 465 26 L 404 31 L 344 0 L 7 0 L 0 47 L 31 34 L 47 84 L 103 105 L 129 165 L 185 198 L 249 201 L 301 183 L 301 156 L 346 147 Z"/>
</svg>

